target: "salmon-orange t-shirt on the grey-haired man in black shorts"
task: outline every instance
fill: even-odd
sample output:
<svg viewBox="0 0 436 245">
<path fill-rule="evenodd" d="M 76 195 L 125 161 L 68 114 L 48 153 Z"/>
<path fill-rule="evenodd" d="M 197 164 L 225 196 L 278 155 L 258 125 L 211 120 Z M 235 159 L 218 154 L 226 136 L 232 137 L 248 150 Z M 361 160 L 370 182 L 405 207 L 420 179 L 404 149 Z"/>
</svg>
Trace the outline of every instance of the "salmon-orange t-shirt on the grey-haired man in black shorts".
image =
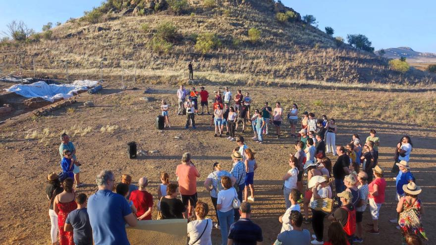
<svg viewBox="0 0 436 245">
<path fill-rule="evenodd" d="M 200 173 L 194 166 L 179 164 L 175 174 L 178 178 L 181 195 L 194 195 L 197 193 L 197 177 L 200 177 Z"/>
</svg>

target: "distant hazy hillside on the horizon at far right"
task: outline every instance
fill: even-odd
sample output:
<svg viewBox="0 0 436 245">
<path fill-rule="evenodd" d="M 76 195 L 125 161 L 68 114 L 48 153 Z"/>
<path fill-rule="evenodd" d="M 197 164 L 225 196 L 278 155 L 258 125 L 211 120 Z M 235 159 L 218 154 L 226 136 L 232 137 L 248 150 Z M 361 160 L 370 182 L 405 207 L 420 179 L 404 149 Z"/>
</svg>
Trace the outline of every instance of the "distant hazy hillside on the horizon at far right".
<svg viewBox="0 0 436 245">
<path fill-rule="evenodd" d="M 436 62 L 436 54 L 435 53 L 422 53 L 417 52 L 409 47 L 399 47 L 399 48 L 390 48 L 384 49 L 385 54 L 383 57 L 398 59 L 401 56 L 406 57 L 408 62 L 413 63 L 435 63 Z M 376 51 L 378 54 L 379 51 Z"/>
</svg>

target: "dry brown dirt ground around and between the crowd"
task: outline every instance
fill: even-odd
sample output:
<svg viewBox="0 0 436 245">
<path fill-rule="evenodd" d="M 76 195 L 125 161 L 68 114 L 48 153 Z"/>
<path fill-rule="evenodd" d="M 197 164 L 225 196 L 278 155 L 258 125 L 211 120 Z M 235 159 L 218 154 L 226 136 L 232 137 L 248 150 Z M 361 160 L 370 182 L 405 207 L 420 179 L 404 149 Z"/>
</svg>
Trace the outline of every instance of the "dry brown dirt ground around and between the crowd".
<svg viewBox="0 0 436 245">
<path fill-rule="evenodd" d="M 145 89 L 127 90 L 119 93 L 118 86 L 108 86 L 98 95 L 82 94 L 78 102 L 67 108 L 53 111 L 49 116 L 20 120 L 7 120 L 0 125 L 0 243 L 1 244 L 50 244 L 50 220 L 48 217 L 48 200 L 45 195 L 46 178 L 49 172 L 60 171 L 58 146 L 59 135 L 67 130 L 71 141 L 77 148 L 77 157 L 82 162 L 81 180 L 86 186 L 78 189 L 80 193 L 92 195 L 97 186 L 95 176 L 103 169 L 110 169 L 120 181 L 121 174 L 130 174 L 136 183 L 142 176 L 147 176 L 151 182 L 148 191 L 157 198 L 157 186 L 160 184 L 159 174 L 166 171 L 171 181 L 175 181 L 175 168 L 180 163 L 182 153 L 193 154 L 193 162 L 201 173 L 197 187 L 199 199 L 212 207 L 209 193 L 205 191 L 203 182 L 212 172 L 215 161 L 223 163 L 226 170 L 231 168 L 230 153 L 236 143 L 225 138 L 214 138 L 209 129 L 211 116 L 196 116 L 197 130 L 185 130 L 185 116 L 176 115 L 177 88 L 168 86 L 153 86 L 161 91 L 159 94 L 143 95 Z M 198 86 L 199 87 L 199 86 Z M 207 86 L 210 93 L 216 86 Z M 232 88 L 236 90 L 236 88 Z M 363 92 L 363 91 L 323 91 L 317 89 L 249 87 L 255 106 L 261 106 L 264 100 L 282 101 L 283 107 L 289 109 L 292 102 L 300 105 L 300 113 L 313 111 L 317 116 L 327 114 L 334 116 L 338 125 L 336 144 L 346 144 L 351 140 L 351 134 L 358 133 L 363 139 L 371 128 L 378 131 L 381 147 L 379 164 L 386 174 L 386 203 L 382 205 L 380 235 L 365 234 L 364 244 L 384 245 L 400 244 L 400 232 L 389 219 L 395 217 L 396 202 L 395 182 L 390 168 L 393 163 L 394 146 L 402 135 L 409 135 L 414 144 L 411 153 L 411 167 L 417 184 L 423 188 L 421 198 L 426 214 L 423 215 L 424 228 L 430 242 L 436 239 L 433 229 L 435 223 L 431 217 L 436 215 L 435 193 L 435 163 L 436 163 L 436 133 L 431 128 L 409 124 L 405 121 L 378 120 L 370 116 L 358 117 L 360 111 L 351 114 L 340 110 L 326 110 L 328 98 L 347 101 L 348 98 L 372 98 L 374 104 L 382 105 L 387 97 L 401 97 L 401 93 Z M 170 93 L 170 94 L 169 94 Z M 105 97 L 106 96 L 106 97 Z M 155 101 L 145 102 L 141 97 L 155 98 Z M 420 96 L 420 94 L 416 94 Z M 160 114 L 160 99 L 166 99 L 170 105 L 170 129 L 160 132 L 156 129 L 155 118 Z M 321 100 L 322 103 L 316 102 Z M 94 100 L 96 106 L 84 108 L 83 102 Z M 319 106 L 314 106 L 318 104 Z M 323 104 L 324 103 L 324 104 Z M 331 103 L 334 104 L 334 103 Z M 325 107 L 327 106 L 327 107 Z M 74 108 L 74 109 L 70 109 Z M 332 107 L 334 108 L 334 106 Z M 362 112 L 363 113 L 363 112 Z M 429 120 L 434 120 L 430 118 Z M 113 132 L 101 132 L 101 127 L 117 125 Z M 84 128 L 89 130 L 85 130 Z M 289 135 L 289 124 L 283 124 L 283 134 Z M 45 129 L 45 135 L 38 136 Z M 37 131 L 35 139 L 26 135 Z M 273 130 L 271 130 L 273 132 Z M 255 197 L 252 219 L 263 230 L 264 244 L 272 244 L 280 232 L 281 224 L 278 216 L 285 211 L 281 177 L 288 170 L 289 153 L 294 152 L 294 139 L 288 136 L 276 139 L 266 136 L 265 144 L 256 144 L 251 140 L 252 130 L 237 135 L 243 135 L 248 147 L 257 152 L 259 165 L 255 174 Z M 180 139 L 174 137 L 180 136 Z M 30 137 L 32 138 L 32 137 Z M 139 150 L 159 150 L 158 153 L 138 156 L 129 159 L 127 143 L 135 141 Z M 332 157 L 332 161 L 335 159 Z M 155 200 L 155 204 L 157 200 Z M 213 208 L 209 216 L 215 219 Z M 156 218 L 157 212 L 153 216 Z M 370 222 L 370 214 L 364 214 L 364 224 Z M 327 228 L 326 220 L 325 227 Z M 311 224 L 303 224 L 304 229 L 312 232 Z M 327 235 L 327 229 L 325 230 Z M 219 230 L 214 229 L 213 243 L 220 241 Z M 145 244 L 152 244 L 152 241 Z M 168 242 L 171 244 L 171 242 Z"/>
</svg>

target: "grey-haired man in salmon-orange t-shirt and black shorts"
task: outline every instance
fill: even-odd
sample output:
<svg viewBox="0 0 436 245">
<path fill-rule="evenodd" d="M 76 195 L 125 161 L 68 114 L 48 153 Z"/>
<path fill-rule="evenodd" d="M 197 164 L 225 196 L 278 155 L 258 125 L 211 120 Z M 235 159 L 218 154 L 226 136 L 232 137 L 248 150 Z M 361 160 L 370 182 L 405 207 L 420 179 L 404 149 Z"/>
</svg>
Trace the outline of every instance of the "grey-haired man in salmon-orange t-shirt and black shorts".
<svg viewBox="0 0 436 245">
<path fill-rule="evenodd" d="M 177 180 L 179 183 L 180 194 L 182 196 L 183 205 L 186 210 L 189 211 L 191 216 L 192 208 L 197 204 L 197 178 L 200 177 L 200 173 L 191 162 L 191 153 L 185 152 L 182 155 L 182 163 L 179 164 L 175 170 Z M 186 215 L 185 217 L 189 217 Z"/>
</svg>

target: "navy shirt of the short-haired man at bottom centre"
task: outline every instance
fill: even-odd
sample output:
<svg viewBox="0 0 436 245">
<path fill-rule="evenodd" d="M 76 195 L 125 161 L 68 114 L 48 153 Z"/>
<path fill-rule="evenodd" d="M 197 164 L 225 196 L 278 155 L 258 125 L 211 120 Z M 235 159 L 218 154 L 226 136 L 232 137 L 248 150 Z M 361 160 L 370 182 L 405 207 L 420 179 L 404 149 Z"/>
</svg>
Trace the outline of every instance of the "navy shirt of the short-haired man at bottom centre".
<svg viewBox="0 0 436 245">
<path fill-rule="evenodd" d="M 228 238 L 234 245 L 256 245 L 264 240 L 260 226 L 247 218 L 241 218 L 230 226 Z"/>
</svg>

